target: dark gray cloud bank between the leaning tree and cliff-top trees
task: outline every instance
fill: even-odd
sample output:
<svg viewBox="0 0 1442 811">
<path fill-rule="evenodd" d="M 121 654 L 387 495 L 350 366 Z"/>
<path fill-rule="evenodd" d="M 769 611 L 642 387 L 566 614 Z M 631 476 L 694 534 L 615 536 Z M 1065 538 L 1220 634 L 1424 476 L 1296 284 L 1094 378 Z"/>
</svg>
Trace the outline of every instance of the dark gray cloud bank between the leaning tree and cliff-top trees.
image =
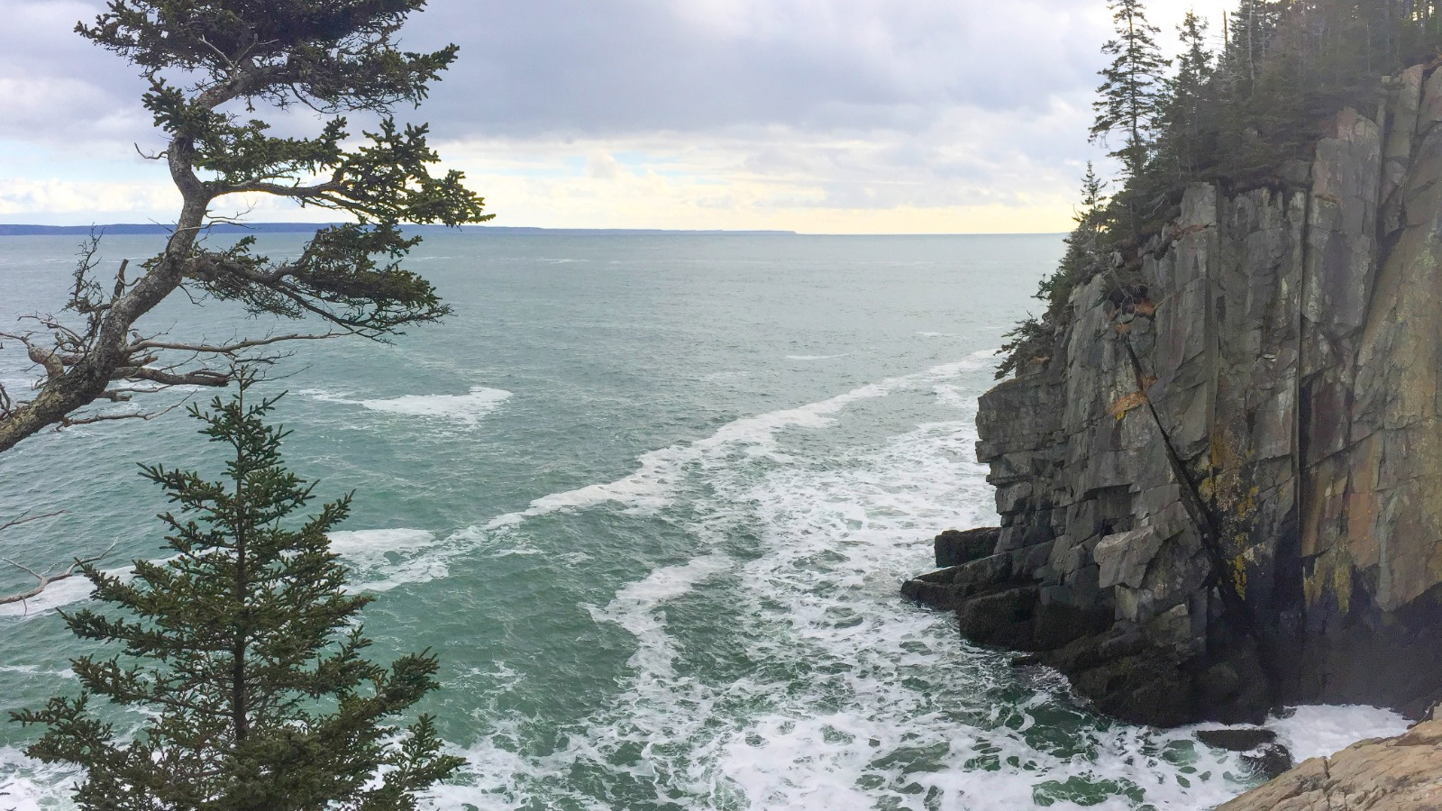
<svg viewBox="0 0 1442 811">
<path fill-rule="evenodd" d="M 939 108 L 1041 110 L 1084 92 L 1094 6 L 451 0 L 411 38 L 461 45 L 428 114 L 466 134 L 917 127 Z"/>
</svg>

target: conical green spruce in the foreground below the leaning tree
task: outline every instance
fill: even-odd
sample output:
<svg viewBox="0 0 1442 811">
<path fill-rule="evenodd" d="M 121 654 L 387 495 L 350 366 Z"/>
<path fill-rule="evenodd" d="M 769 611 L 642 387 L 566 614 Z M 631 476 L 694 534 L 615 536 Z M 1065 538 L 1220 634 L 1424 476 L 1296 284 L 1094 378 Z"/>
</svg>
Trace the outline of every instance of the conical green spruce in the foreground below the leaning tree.
<svg viewBox="0 0 1442 811">
<path fill-rule="evenodd" d="M 461 763 L 440 753 L 430 717 L 395 726 L 437 687 L 437 659 L 362 657 L 371 597 L 346 593 L 326 537 L 350 498 L 291 518 L 314 483 L 283 465 L 286 431 L 264 421 L 277 398 L 255 403 L 248 388 L 192 407 L 225 447 L 221 481 L 143 466 L 179 505 L 160 517 L 172 557 L 136 561 L 130 580 L 85 567 L 95 597 L 120 610 L 65 621 L 124 652 L 75 659 L 78 697 L 14 714 L 46 727 L 30 756 L 87 769 L 75 794 L 87 811 L 410 810 Z M 120 735 L 94 696 L 150 720 Z"/>
</svg>

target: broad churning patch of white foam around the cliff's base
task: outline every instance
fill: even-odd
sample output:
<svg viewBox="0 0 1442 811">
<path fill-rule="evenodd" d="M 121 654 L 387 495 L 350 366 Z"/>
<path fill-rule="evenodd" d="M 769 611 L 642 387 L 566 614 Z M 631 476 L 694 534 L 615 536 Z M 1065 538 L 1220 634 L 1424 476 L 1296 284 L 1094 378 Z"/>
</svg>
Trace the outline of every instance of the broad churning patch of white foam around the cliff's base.
<svg viewBox="0 0 1442 811">
<path fill-rule="evenodd" d="M 1181 811 L 1243 791 L 1253 778 L 1240 758 L 1201 746 L 1194 730 L 1100 723 L 1054 672 L 1018 687 L 1004 657 L 897 599 L 898 579 L 929 563 L 919 537 L 994 518 L 985 469 L 968 460 L 975 400 L 947 408 L 960 418 L 855 457 L 731 455 L 692 469 L 684 494 L 698 499 L 688 531 L 699 554 L 593 609 L 636 638 L 624 690 L 549 755 L 518 755 L 525 732 L 503 722 L 466 752 L 472 785 L 448 786 L 437 807 L 604 808 L 613 784 L 653 786 L 660 804 L 917 811 Z M 756 547 L 727 548 L 751 535 Z M 685 641 L 663 608 L 720 587 L 738 589 L 727 592 L 737 605 L 727 644 L 757 667 L 708 683 L 673 667 Z M 1397 732 L 1394 717 L 1350 707 L 1304 707 L 1273 726 L 1299 758 Z M 577 773 L 601 788 L 578 786 Z"/>
</svg>

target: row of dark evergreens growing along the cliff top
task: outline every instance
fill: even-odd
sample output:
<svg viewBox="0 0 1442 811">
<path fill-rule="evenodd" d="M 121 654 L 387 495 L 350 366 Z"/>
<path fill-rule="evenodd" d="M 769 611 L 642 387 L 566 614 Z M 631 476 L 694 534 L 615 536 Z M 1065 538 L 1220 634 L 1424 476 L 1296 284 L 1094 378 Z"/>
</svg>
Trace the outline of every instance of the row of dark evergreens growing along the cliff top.
<svg viewBox="0 0 1442 811">
<path fill-rule="evenodd" d="M 1174 58 L 1141 0 L 1107 7 L 1116 36 L 1102 46 L 1112 61 L 1090 136 L 1119 177 L 1106 183 L 1087 166 L 1076 228 L 1037 291 L 1045 309 L 1008 333 L 998 378 L 1051 355 L 1076 286 L 1175 218 L 1188 183 L 1280 183 L 1278 167 L 1306 157 L 1338 110 L 1374 108 L 1383 76 L 1442 53 L 1436 0 L 1242 0 L 1220 30 L 1188 13 Z"/>
</svg>

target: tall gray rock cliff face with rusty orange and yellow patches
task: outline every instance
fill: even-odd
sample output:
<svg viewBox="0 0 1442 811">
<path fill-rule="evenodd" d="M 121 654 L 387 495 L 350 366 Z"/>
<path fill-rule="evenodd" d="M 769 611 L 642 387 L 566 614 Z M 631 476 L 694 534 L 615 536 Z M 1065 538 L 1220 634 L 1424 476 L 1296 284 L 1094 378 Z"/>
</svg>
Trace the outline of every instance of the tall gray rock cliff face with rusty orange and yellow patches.
<svg viewBox="0 0 1442 811">
<path fill-rule="evenodd" d="M 981 401 L 1001 527 L 906 593 L 1133 722 L 1442 697 L 1442 71 L 1070 309 Z"/>
</svg>

